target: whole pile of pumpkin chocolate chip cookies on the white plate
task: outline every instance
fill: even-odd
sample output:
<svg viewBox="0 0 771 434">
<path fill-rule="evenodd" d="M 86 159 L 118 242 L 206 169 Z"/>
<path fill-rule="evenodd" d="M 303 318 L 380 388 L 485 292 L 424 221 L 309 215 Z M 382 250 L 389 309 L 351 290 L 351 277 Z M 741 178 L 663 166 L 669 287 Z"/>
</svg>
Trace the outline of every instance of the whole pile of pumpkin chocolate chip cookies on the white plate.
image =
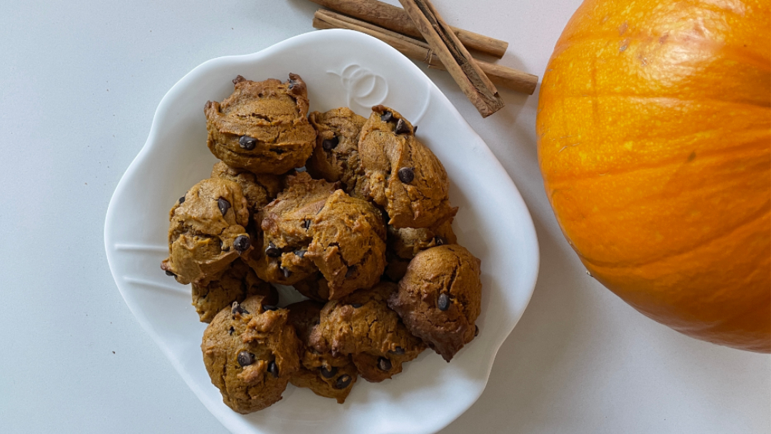
<svg viewBox="0 0 771 434">
<path fill-rule="evenodd" d="M 221 161 L 172 207 L 161 264 L 192 284 L 225 404 L 264 409 L 289 382 L 342 403 L 425 348 L 449 362 L 479 331 L 480 260 L 416 127 L 386 106 L 308 115 L 295 74 L 233 82 L 204 109 Z M 280 307 L 272 284 L 308 300 Z"/>
</svg>

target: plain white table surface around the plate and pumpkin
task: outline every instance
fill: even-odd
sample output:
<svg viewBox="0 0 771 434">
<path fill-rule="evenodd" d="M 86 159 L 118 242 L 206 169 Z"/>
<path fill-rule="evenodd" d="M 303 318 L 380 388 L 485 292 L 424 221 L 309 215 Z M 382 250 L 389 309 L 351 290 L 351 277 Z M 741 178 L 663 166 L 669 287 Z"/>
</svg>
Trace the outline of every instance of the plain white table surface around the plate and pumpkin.
<svg viewBox="0 0 771 434">
<path fill-rule="evenodd" d="M 541 76 L 579 3 L 436 7 L 452 25 L 509 41 L 501 64 Z M 316 8 L 0 2 L 0 432 L 226 432 L 123 303 L 104 217 L 177 79 L 207 59 L 310 32 Z M 544 195 L 537 96 L 502 90 L 506 108 L 482 119 L 445 72 L 427 73 L 510 173 L 541 249 L 533 299 L 487 389 L 442 433 L 771 432 L 768 355 L 679 335 L 584 272 Z"/>
</svg>

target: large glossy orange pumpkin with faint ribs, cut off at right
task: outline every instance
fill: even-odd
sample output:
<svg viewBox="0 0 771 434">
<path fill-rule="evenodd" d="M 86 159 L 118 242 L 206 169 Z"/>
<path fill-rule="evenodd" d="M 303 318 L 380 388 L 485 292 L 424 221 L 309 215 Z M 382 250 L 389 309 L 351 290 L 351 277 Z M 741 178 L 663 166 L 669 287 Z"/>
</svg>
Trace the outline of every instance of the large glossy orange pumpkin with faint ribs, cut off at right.
<svg viewBox="0 0 771 434">
<path fill-rule="evenodd" d="M 585 0 L 540 88 L 567 241 L 638 311 L 771 352 L 771 2 Z"/>
</svg>

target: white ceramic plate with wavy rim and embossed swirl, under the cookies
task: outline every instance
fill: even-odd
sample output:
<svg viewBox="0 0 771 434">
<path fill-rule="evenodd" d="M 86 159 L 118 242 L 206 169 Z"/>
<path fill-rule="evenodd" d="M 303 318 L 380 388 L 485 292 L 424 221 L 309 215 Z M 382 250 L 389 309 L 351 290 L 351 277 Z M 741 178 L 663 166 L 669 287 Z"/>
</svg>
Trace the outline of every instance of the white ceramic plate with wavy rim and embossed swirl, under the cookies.
<svg viewBox="0 0 771 434">
<path fill-rule="evenodd" d="M 415 125 L 439 156 L 459 206 L 458 242 L 482 259 L 480 335 L 452 363 L 426 351 L 379 384 L 359 381 L 343 405 L 289 385 L 268 409 L 239 415 L 222 403 L 200 353 L 205 324 L 190 287 L 160 270 L 167 256 L 168 213 L 187 189 L 209 176 L 204 103 L 233 91 L 231 80 L 288 79 L 308 84 L 311 110 L 349 106 L 362 116 L 383 103 Z M 538 245 L 527 207 L 498 160 L 449 100 L 395 49 L 358 32 L 299 35 L 261 52 L 205 62 L 163 97 L 145 146 L 113 194 L 104 228 L 110 270 L 126 304 L 190 389 L 231 432 L 424 434 L 452 422 L 479 398 L 498 348 L 530 301 Z"/>
</svg>

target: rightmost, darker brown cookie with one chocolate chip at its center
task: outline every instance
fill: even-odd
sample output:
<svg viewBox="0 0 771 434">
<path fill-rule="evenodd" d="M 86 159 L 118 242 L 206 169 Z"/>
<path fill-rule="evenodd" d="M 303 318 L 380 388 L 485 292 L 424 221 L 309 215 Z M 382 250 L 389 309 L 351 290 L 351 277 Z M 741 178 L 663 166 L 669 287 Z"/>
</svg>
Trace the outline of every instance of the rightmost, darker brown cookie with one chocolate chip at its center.
<svg viewBox="0 0 771 434">
<path fill-rule="evenodd" d="M 481 298 L 480 260 L 452 244 L 416 254 L 388 304 L 449 362 L 476 335 Z"/>
</svg>

